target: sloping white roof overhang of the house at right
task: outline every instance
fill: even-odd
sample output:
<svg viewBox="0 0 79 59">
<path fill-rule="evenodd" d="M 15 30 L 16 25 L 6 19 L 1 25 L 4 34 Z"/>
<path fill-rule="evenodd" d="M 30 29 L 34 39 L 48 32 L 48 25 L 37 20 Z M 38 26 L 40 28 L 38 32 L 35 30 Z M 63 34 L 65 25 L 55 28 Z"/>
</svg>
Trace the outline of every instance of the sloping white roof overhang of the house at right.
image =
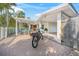
<svg viewBox="0 0 79 59">
<path fill-rule="evenodd" d="M 71 4 L 61 4 L 54 8 L 49 9 L 46 12 L 39 14 L 38 21 L 56 21 L 57 15 L 59 12 L 64 12 L 64 14 L 68 15 L 69 17 L 74 17 L 77 15 L 76 10 L 73 8 Z"/>
</svg>

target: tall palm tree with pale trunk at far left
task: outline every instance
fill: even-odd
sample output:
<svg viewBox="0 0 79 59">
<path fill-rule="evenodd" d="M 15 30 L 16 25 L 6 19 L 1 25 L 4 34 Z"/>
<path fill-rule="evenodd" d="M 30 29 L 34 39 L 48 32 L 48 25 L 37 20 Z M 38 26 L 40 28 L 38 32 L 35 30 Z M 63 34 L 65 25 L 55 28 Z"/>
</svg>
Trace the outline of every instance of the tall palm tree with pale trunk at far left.
<svg viewBox="0 0 79 59">
<path fill-rule="evenodd" d="M 9 19 L 11 16 L 9 10 L 13 10 L 11 6 L 15 5 L 15 3 L 0 3 L 0 25 L 6 27 L 6 33 L 8 29 Z"/>
</svg>

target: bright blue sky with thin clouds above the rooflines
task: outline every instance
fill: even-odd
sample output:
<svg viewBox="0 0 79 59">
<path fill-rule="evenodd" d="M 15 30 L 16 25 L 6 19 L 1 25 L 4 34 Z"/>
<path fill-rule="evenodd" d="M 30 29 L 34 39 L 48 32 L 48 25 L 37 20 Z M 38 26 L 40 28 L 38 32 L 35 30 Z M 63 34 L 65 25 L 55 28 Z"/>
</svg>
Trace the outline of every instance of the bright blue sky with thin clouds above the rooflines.
<svg viewBox="0 0 79 59">
<path fill-rule="evenodd" d="M 37 14 L 60 4 L 61 3 L 18 3 L 17 7 L 24 10 L 26 17 L 34 20 Z M 74 3 L 73 6 L 79 11 L 79 3 Z"/>
</svg>

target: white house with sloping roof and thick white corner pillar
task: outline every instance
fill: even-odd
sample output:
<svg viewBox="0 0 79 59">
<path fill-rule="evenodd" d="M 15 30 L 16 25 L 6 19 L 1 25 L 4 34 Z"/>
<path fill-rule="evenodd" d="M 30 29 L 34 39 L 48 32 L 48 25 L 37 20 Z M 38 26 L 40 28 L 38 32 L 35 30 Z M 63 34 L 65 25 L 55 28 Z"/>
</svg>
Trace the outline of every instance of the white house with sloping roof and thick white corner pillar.
<svg viewBox="0 0 79 59">
<path fill-rule="evenodd" d="M 55 33 L 57 34 L 57 38 L 61 39 L 66 21 L 76 15 L 77 12 L 72 4 L 61 4 L 39 14 L 37 21 L 40 22 L 39 24 L 44 25 L 49 33 Z"/>
</svg>

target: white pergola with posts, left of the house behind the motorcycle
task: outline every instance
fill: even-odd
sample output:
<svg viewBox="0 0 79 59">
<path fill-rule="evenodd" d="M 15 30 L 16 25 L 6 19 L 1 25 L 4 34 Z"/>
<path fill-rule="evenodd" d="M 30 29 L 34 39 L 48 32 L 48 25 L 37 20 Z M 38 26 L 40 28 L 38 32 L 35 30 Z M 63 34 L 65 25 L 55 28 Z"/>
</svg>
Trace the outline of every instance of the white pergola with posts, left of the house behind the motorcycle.
<svg viewBox="0 0 79 59">
<path fill-rule="evenodd" d="M 31 21 L 28 18 L 15 18 L 15 20 L 16 20 L 16 29 L 15 29 L 16 36 L 18 35 L 18 24 L 26 23 L 29 27 L 28 33 L 29 33 L 29 30 L 31 29 L 30 28 L 31 25 L 37 25 L 37 28 L 39 28 L 39 22 L 37 22 L 37 21 Z"/>
</svg>

